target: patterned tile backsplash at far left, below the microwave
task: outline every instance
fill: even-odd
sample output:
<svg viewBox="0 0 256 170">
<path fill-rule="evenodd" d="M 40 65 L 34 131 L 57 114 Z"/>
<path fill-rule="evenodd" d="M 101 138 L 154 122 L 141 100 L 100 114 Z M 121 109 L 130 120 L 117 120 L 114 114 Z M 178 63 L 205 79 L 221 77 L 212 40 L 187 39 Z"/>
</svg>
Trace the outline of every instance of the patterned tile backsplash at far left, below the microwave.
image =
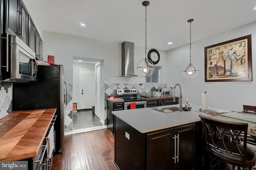
<svg viewBox="0 0 256 170">
<path fill-rule="evenodd" d="M 12 112 L 12 84 L 0 83 L 0 118 Z"/>
</svg>

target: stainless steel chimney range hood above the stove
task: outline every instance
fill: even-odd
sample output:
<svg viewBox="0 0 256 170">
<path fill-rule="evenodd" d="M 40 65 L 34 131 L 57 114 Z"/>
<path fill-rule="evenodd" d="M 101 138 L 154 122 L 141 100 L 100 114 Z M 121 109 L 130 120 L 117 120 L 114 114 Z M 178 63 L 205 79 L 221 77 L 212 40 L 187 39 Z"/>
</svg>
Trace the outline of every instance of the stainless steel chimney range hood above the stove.
<svg viewBox="0 0 256 170">
<path fill-rule="evenodd" d="M 136 77 L 134 74 L 134 43 L 122 43 L 122 75 L 120 77 Z"/>
</svg>

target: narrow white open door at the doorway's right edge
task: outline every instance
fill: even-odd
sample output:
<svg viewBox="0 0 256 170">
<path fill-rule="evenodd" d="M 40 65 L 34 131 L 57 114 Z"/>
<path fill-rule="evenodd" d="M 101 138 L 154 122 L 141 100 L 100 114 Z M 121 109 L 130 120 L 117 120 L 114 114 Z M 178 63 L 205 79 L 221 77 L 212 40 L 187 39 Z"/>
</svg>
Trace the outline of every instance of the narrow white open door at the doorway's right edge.
<svg viewBox="0 0 256 170">
<path fill-rule="evenodd" d="M 100 117 L 100 67 L 101 65 L 98 65 L 96 67 L 96 116 L 102 120 L 102 117 Z"/>
</svg>

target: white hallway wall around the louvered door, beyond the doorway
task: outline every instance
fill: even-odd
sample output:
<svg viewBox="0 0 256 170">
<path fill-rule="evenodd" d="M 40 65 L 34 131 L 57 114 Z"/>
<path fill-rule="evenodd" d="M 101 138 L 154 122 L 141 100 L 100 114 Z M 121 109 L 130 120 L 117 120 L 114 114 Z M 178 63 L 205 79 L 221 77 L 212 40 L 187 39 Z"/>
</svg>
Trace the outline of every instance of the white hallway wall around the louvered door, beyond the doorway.
<svg viewBox="0 0 256 170">
<path fill-rule="evenodd" d="M 81 69 L 95 70 L 95 64 L 73 63 L 73 103 L 77 103 L 77 109 L 81 109 Z M 75 85 L 78 84 L 78 87 Z"/>
</svg>

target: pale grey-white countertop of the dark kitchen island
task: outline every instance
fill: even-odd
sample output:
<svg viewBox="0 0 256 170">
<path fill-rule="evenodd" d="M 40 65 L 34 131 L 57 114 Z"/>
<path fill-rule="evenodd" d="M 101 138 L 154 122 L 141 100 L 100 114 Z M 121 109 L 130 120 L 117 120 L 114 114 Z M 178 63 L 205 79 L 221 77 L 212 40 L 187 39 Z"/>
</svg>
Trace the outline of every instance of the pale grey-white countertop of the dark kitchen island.
<svg viewBox="0 0 256 170">
<path fill-rule="evenodd" d="M 179 106 L 180 105 L 177 104 L 161 107 L 164 109 Z M 182 106 L 185 106 L 185 104 L 182 104 Z M 208 115 L 206 113 L 199 112 L 199 109 L 202 108 L 202 106 L 190 104 L 190 107 L 190 111 L 175 111 L 173 113 L 162 113 L 151 109 L 156 107 L 112 111 L 112 113 L 139 132 L 148 133 L 200 121 L 200 117 L 198 117 L 199 114 Z M 208 109 L 214 108 L 209 107 Z"/>
</svg>

